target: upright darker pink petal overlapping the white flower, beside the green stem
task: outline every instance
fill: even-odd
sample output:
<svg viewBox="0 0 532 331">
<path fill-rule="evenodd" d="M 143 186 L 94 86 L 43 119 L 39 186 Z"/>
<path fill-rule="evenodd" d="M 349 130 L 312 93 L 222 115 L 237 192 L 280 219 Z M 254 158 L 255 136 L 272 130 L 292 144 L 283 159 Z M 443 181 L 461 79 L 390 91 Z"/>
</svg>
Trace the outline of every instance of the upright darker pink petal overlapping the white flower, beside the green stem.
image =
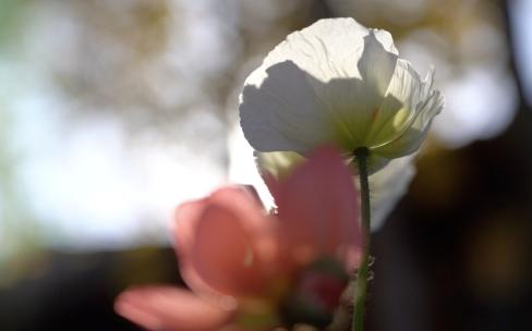
<svg viewBox="0 0 532 331">
<path fill-rule="evenodd" d="M 337 149 L 317 149 L 274 194 L 283 247 L 295 265 L 321 255 L 344 261 L 349 255 L 352 263 L 361 247 L 359 194 Z"/>
</svg>

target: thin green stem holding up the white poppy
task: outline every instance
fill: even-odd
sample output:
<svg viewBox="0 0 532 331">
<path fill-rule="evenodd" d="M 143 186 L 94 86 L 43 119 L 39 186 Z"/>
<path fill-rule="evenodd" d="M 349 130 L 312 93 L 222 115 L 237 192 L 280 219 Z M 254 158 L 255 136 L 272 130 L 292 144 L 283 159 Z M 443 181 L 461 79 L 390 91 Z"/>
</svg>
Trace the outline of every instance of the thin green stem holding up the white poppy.
<svg viewBox="0 0 532 331">
<path fill-rule="evenodd" d="M 354 150 L 354 157 L 356 158 L 356 164 L 360 179 L 360 195 L 361 195 L 361 209 L 362 209 L 362 263 L 359 268 L 359 274 L 356 277 L 356 285 L 353 297 L 353 320 L 352 331 L 364 330 L 364 311 L 367 291 L 367 271 L 370 269 L 370 183 L 367 182 L 367 156 L 370 151 L 367 148 L 356 148 Z"/>
</svg>

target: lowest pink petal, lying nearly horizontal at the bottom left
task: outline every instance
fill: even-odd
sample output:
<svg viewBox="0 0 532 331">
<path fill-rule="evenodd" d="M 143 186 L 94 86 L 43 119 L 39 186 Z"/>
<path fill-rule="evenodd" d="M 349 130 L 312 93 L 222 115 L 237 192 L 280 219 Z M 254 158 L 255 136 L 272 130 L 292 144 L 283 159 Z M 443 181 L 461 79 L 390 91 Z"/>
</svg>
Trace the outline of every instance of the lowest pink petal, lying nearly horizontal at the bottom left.
<svg viewBox="0 0 532 331">
<path fill-rule="evenodd" d="M 231 317 L 231 311 L 214 307 L 192 292 L 172 286 L 126 290 L 118 296 L 114 310 L 148 330 L 216 330 Z"/>
</svg>

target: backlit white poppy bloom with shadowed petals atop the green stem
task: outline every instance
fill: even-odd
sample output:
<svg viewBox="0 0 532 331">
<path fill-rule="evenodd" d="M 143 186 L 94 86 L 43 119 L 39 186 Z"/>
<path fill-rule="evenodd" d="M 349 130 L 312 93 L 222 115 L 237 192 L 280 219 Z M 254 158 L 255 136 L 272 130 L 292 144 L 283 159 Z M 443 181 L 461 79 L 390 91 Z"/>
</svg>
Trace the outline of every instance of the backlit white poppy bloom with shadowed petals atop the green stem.
<svg viewBox="0 0 532 331">
<path fill-rule="evenodd" d="M 443 97 L 398 58 L 389 33 L 352 19 L 290 34 L 245 81 L 241 125 L 259 151 L 370 150 L 370 171 L 415 151 Z"/>
</svg>

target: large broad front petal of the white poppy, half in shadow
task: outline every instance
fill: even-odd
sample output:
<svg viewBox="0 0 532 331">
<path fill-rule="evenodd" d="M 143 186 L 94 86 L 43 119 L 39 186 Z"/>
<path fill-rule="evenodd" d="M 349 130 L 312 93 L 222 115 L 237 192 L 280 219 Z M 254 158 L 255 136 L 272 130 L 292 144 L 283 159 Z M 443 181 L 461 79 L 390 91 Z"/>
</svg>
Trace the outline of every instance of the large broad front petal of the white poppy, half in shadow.
<svg viewBox="0 0 532 331">
<path fill-rule="evenodd" d="M 241 125 L 262 151 L 305 154 L 363 143 L 394 73 L 391 36 L 352 19 L 322 20 L 278 45 L 244 84 Z"/>
</svg>

